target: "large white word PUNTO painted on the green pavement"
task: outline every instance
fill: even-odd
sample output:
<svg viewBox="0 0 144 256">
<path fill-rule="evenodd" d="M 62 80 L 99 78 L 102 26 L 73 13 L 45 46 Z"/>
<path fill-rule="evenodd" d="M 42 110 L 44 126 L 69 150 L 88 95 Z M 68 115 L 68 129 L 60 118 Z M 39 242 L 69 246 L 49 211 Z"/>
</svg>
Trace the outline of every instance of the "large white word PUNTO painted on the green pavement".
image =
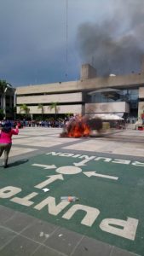
<svg viewBox="0 0 144 256">
<path fill-rule="evenodd" d="M 40 184 L 37 184 L 35 187 L 40 187 Z M 38 195 L 36 192 L 32 192 L 25 197 L 14 196 L 21 192 L 22 189 L 13 186 L 7 186 L 0 189 L 0 198 L 9 199 L 14 203 L 20 204 L 22 206 L 30 207 L 34 204 L 32 199 Z M 48 196 L 43 201 L 39 202 L 34 206 L 34 209 L 40 211 L 43 207 L 48 207 L 48 213 L 54 216 L 57 216 L 60 212 L 62 212 L 68 205 L 70 205 L 70 201 L 60 201 L 57 205 L 55 204 L 55 197 Z M 84 211 L 85 216 L 81 221 L 81 224 L 84 224 L 88 227 L 92 226 L 95 223 L 95 219 L 101 213 L 99 209 L 89 206 L 84 206 L 81 204 L 72 204 L 62 216 L 61 218 L 70 219 L 72 216 L 78 211 Z M 101 230 L 111 233 L 113 235 L 122 236 L 126 239 L 130 239 L 132 241 L 135 240 L 135 234 L 138 225 L 138 219 L 127 217 L 126 220 L 118 219 L 118 218 L 105 218 L 101 221 L 99 227 Z M 119 226 L 116 227 L 116 226 Z"/>
</svg>

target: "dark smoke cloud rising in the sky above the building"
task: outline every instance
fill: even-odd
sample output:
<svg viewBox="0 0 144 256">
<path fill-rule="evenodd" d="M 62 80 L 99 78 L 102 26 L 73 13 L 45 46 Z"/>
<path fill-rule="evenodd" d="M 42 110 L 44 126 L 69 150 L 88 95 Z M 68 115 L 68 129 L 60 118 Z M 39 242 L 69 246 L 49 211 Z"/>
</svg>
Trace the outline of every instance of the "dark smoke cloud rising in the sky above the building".
<svg viewBox="0 0 144 256">
<path fill-rule="evenodd" d="M 144 1 L 113 0 L 113 14 L 101 23 L 78 27 L 78 48 L 83 62 L 98 75 L 140 72 L 144 55 Z"/>
</svg>

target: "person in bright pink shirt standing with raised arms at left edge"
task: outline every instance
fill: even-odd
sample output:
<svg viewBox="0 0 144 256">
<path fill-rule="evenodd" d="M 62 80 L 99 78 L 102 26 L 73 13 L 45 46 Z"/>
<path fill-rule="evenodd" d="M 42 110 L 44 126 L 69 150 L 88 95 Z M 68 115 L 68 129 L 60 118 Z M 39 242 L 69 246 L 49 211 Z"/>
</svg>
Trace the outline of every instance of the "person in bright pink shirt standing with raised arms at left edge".
<svg viewBox="0 0 144 256">
<path fill-rule="evenodd" d="M 5 122 L 1 128 L 0 134 L 0 157 L 4 152 L 4 164 L 3 167 L 8 167 L 9 152 L 12 146 L 12 136 L 19 133 L 18 126 L 15 129 L 12 128 L 12 125 L 9 121 Z"/>
</svg>

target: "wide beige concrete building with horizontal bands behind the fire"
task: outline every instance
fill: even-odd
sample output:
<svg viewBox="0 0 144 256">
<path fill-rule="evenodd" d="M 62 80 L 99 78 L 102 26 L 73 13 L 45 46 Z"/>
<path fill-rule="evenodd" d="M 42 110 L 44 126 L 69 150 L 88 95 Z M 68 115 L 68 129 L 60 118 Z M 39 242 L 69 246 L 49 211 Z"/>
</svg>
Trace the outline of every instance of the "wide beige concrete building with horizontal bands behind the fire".
<svg viewBox="0 0 144 256">
<path fill-rule="evenodd" d="M 17 113 L 26 104 L 32 118 L 66 113 L 116 113 L 124 118 L 141 119 L 144 113 L 144 61 L 140 73 L 97 77 L 89 64 L 81 67 L 80 80 L 54 84 L 35 84 L 16 88 Z M 42 108 L 39 108 L 41 104 Z"/>
</svg>

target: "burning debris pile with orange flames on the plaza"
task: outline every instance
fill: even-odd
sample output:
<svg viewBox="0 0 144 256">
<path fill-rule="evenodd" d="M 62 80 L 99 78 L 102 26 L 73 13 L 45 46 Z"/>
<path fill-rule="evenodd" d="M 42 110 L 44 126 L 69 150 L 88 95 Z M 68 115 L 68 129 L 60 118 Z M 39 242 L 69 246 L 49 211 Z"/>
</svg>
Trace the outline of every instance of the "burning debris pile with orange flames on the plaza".
<svg viewBox="0 0 144 256">
<path fill-rule="evenodd" d="M 76 115 L 66 122 L 60 137 L 89 137 L 92 130 L 101 132 L 101 119 L 89 119 L 87 116 Z"/>
</svg>

